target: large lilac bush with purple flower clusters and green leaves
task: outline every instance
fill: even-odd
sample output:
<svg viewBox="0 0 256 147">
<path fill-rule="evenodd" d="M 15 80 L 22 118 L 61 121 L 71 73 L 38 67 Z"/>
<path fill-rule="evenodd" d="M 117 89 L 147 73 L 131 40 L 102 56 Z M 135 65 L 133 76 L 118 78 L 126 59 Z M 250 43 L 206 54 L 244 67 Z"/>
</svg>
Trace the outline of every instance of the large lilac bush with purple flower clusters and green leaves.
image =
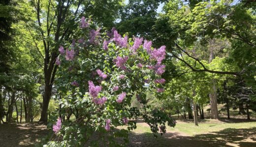
<svg viewBox="0 0 256 147">
<path fill-rule="evenodd" d="M 127 142 L 128 131 L 136 128 L 139 119 L 148 123 L 155 135 L 165 132 L 166 127 L 160 125 L 174 126 L 161 110 L 147 109 L 146 92 L 158 96 L 164 91 L 165 46 L 153 49 L 151 41 L 122 37 L 114 28 L 106 32 L 92 26 L 91 20 L 82 18 L 80 38 L 59 49 L 56 85 L 62 96 L 60 116 L 67 120 L 54 127 L 58 126 L 57 137 L 62 141 L 52 139 L 48 146 L 97 145 L 100 142 L 96 140 L 116 145 L 116 137 Z M 131 105 L 132 97 L 142 109 Z M 75 121 L 69 120 L 71 114 Z M 121 125 L 126 129 L 118 128 Z"/>
</svg>

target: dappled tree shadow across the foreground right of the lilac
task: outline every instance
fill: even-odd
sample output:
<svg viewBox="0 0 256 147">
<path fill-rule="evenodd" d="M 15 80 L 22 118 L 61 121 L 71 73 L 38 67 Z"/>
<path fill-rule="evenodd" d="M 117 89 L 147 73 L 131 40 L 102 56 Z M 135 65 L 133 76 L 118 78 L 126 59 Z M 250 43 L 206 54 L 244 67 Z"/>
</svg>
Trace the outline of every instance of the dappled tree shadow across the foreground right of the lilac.
<svg viewBox="0 0 256 147">
<path fill-rule="evenodd" d="M 132 133 L 129 138 L 129 147 L 256 147 L 256 127 L 226 128 L 194 136 L 166 133 L 158 138 L 154 138 L 151 133 Z"/>
</svg>

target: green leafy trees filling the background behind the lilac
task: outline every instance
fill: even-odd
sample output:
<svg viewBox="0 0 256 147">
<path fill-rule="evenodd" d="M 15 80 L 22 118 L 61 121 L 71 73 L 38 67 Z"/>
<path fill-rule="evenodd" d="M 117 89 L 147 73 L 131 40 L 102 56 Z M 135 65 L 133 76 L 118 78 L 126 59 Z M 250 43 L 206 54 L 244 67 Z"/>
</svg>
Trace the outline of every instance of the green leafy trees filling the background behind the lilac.
<svg viewBox="0 0 256 147">
<path fill-rule="evenodd" d="M 47 123 L 63 111 L 56 59 L 60 45 L 81 36 L 82 16 L 100 33 L 116 27 L 154 48 L 166 46 L 165 90 L 146 93 L 148 109 L 185 119 L 204 119 L 206 105 L 219 119 L 218 103 L 228 119 L 230 109 L 248 119 L 249 110 L 256 111 L 252 0 L 0 0 L 0 123 Z M 131 105 L 141 108 L 134 98 Z M 70 112 L 65 118 L 77 117 L 78 110 Z"/>
</svg>

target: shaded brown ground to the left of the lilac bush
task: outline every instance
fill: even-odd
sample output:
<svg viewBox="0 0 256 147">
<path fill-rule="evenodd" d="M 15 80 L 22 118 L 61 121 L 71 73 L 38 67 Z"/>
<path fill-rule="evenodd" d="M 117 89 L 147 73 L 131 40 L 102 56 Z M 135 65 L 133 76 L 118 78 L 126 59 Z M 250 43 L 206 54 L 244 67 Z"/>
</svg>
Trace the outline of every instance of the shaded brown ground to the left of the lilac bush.
<svg viewBox="0 0 256 147">
<path fill-rule="evenodd" d="M 45 135 L 46 126 L 38 123 L 0 124 L 0 147 L 34 147 Z"/>
</svg>

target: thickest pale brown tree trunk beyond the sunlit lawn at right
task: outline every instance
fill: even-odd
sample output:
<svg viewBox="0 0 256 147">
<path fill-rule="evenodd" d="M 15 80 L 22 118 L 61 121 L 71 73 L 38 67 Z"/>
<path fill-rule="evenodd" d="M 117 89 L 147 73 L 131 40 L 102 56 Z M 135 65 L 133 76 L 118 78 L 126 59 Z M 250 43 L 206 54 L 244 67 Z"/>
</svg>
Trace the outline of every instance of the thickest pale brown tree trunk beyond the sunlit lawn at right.
<svg viewBox="0 0 256 147">
<path fill-rule="evenodd" d="M 219 112 L 217 107 L 217 89 L 216 80 L 213 79 L 213 92 L 210 94 L 211 103 L 211 119 L 219 119 Z"/>
</svg>

